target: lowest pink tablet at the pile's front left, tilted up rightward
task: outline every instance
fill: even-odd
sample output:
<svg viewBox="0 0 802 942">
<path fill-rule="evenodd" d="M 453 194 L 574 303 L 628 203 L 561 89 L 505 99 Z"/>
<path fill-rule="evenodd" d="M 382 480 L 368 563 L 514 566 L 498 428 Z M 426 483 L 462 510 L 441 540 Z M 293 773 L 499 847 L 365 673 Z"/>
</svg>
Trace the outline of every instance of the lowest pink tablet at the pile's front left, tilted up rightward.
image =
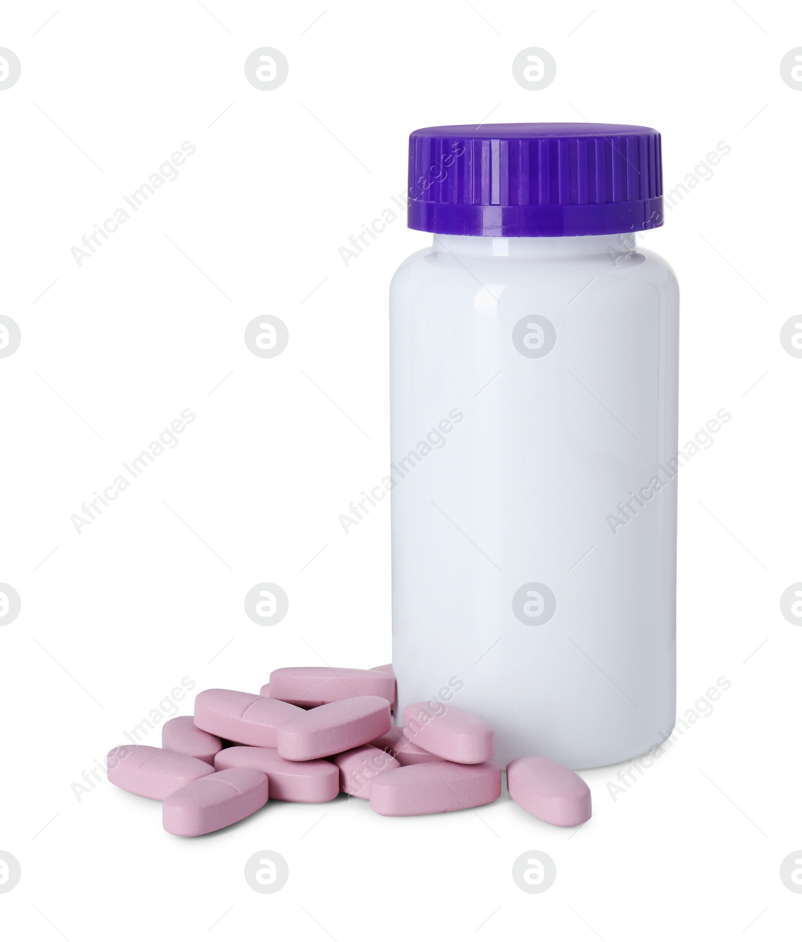
<svg viewBox="0 0 802 942">
<path fill-rule="evenodd" d="M 266 802 L 264 771 L 216 771 L 168 795 L 162 804 L 162 823 L 170 834 L 197 837 L 248 818 Z"/>
</svg>

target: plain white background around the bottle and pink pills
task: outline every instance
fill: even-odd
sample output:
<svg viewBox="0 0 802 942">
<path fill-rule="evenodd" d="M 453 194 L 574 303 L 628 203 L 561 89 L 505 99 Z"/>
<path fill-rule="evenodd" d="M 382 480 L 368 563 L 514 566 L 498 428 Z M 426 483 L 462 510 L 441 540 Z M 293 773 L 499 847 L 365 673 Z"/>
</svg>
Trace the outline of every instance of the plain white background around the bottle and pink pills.
<svg viewBox="0 0 802 942">
<path fill-rule="evenodd" d="M 6 5 L 0 36 L 22 62 L 0 92 L 2 313 L 22 330 L 0 361 L 0 580 L 22 598 L 0 628 L 0 850 L 22 866 L 0 895 L 8 938 L 790 937 L 802 895 L 778 872 L 802 847 L 802 629 L 778 600 L 802 580 L 802 360 L 778 334 L 798 311 L 802 94 L 779 61 L 802 14 L 55 10 Z M 279 89 L 246 81 L 260 46 L 290 63 Z M 526 46 L 555 58 L 549 88 L 513 80 Z M 409 820 L 341 797 L 184 840 L 104 779 L 78 801 L 72 783 L 184 677 L 258 690 L 274 667 L 390 659 L 389 507 L 347 536 L 338 515 L 386 473 L 387 288 L 429 237 L 399 218 L 348 267 L 338 249 L 405 191 L 410 130 L 490 112 L 654 126 L 666 190 L 731 146 L 645 239 L 682 287 L 681 445 L 732 414 L 681 476 L 679 712 L 722 675 L 730 690 L 616 801 L 617 768 L 585 772 L 594 815 L 578 831 L 506 797 Z M 185 140 L 178 178 L 78 267 L 71 247 Z M 243 340 L 265 313 L 290 333 L 275 359 Z M 179 444 L 76 533 L 71 515 L 184 409 L 197 419 Z M 261 581 L 290 599 L 272 628 L 243 605 Z M 273 895 L 243 876 L 263 849 L 289 864 Z M 540 895 L 511 878 L 533 849 L 557 869 Z"/>
</svg>

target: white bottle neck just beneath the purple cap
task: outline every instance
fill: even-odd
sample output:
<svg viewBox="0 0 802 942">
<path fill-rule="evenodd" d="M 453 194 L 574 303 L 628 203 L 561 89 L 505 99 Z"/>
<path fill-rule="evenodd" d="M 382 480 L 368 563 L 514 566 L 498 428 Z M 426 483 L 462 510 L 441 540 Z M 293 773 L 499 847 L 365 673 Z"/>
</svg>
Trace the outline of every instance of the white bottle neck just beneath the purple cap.
<svg viewBox="0 0 802 942">
<path fill-rule="evenodd" d="M 433 235 L 434 252 L 482 258 L 556 259 L 633 252 L 634 233 L 495 238 L 491 235 Z"/>
</svg>

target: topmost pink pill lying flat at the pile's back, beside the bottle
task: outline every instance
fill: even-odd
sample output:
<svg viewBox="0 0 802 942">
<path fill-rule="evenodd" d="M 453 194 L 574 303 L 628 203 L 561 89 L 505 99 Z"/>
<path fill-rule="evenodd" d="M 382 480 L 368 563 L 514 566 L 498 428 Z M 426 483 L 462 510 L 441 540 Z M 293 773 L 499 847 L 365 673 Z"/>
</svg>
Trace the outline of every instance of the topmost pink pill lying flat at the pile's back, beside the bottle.
<svg viewBox="0 0 802 942">
<path fill-rule="evenodd" d="M 392 703 L 395 678 L 382 671 L 347 667 L 282 667 L 270 674 L 271 696 L 297 707 L 318 707 L 353 697 L 383 697 Z"/>
</svg>

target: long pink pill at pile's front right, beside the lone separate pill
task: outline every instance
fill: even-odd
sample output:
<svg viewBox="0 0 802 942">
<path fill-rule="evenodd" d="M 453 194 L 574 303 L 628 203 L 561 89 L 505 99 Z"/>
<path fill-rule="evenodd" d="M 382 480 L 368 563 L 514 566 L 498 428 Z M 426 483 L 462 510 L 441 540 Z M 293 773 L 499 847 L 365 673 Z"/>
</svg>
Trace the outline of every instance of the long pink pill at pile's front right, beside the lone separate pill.
<svg viewBox="0 0 802 942">
<path fill-rule="evenodd" d="M 433 815 L 489 804 L 500 794 L 501 769 L 494 762 L 428 762 L 377 775 L 370 787 L 370 806 L 390 817 Z"/>
</svg>

